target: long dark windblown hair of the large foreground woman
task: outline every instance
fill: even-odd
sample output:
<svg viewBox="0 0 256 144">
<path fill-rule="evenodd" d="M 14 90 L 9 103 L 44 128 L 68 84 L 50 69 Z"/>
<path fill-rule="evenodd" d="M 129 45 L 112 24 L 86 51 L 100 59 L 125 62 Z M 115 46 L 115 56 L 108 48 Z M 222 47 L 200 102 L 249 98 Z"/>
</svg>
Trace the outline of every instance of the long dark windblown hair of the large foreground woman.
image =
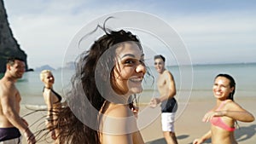
<svg viewBox="0 0 256 144">
<path fill-rule="evenodd" d="M 58 112 L 54 128 L 59 130 L 60 143 L 100 144 L 100 132 L 98 131 L 100 116 L 98 113 L 104 113 L 109 105 L 109 101 L 102 95 L 108 95 L 106 91 L 109 85 L 106 83 L 106 77 L 113 77 L 114 57 L 116 57 L 115 53 L 108 49 L 114 50 L 121 43 L 132 42 L 137 43 L 143 52 L 136 35 L 125 30 L 111 31 L 106 28 L 105 24 L 106 21 L 103 26 L 97 26 L 93 31 L 102 30 L 105 34 L 99 37 L 89 50 L 79 55 L 76 62 L 76 72 L 71 80 L 71 89 L 67 93 L 68 106 L 62 107 Z M 81 41 L 84 39 L 85 37 Z M 91 111 L 91 107 L 95 108 L 98 113 Z M 75 115 L 74 112 L 79 112 L 79 115 L 77 113 Z M 96 127 L 91 127 L 87 123 L 94 123 Z"/>
</svg>

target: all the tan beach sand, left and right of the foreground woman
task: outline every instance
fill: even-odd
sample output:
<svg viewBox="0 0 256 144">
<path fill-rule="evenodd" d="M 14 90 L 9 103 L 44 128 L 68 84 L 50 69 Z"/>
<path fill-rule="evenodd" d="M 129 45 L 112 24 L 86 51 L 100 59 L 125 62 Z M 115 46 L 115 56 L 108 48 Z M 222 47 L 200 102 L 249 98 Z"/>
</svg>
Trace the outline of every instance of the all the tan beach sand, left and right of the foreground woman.
<svg viewBox="0 0 256 144">
<path fill-rule="evenodd" d="M 177 141 L 180 144 L 190 144 L 195 138 L 203 135 L 207 130 L 210 129 L 209 123 L 201 122 L 201 118 L 204 114 L 210 110 L 215 105 L 215 99 L 193 99 L 193 95 L 201 95 L 199 93 L 193 93 L 190 97 L 189 103 L 181 115 L 177 117 L 175 130 L 177 135 Z M 255 117 L 256 109 L 255 109 L 255 101 L 256 98 L 236 98 L 237 103 L 247 109 L 247 111 L 253 113 Z M 43 106 L 44 107 L 44 106 Z M 145 108 L 145 105 L 140 107 L 141 110 Z M 160 110 L 160 109 L 159 109 Z M 20 115 L 23 116 L 28 112 L 32 112 L 28 110 L 25 106 L 21 107 Z M 31 129 L 33 132 L 44 129 L 44 116 L 45 112 L 35 112 L 31 115 L 26 116 L 26 120 L 31 125 Z M 33 124 L 35 123 L 36 124 Z M 33 125 L 32 125 L 33 124 Z M 236 140 L 240 144 L 255 144 L 256 141 L 256 121 L 253 123 L 238 123 L 240 125 L 240 130 L 236 130 Z M 154 122 L 148 124 L 143 130 L 141 130 L 143 135 L 143 139 L 147 144 L 165 144 L 166 141 L 163 138 L 161 132 L 161 124 L 160 117 L 157 117 Z M 26 143 L 23 140 L 23 143 Z M 39 140 L 38 143 L 46 144 L 52 143 L 50 142 L 49 135 Z M 211 141 L 206 141 L 206 143 L 211 143 Z"/>
</svg>

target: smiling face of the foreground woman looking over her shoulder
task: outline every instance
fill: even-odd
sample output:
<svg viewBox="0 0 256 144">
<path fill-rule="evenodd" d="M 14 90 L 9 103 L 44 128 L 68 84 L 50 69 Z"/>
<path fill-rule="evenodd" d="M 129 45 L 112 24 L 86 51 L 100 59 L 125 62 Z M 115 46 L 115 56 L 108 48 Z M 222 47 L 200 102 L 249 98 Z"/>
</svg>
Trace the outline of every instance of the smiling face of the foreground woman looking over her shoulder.
<svg viewBox="0 0 256 144">
<path fill-rule="evenodd" d="M 144 55 L 137 43 L 122 43 L 116 49 L 113 68 L 113 90 L 119 95 L 132 95 L 142 92 L 142 81 L 146 72 Z"/>
</svg>

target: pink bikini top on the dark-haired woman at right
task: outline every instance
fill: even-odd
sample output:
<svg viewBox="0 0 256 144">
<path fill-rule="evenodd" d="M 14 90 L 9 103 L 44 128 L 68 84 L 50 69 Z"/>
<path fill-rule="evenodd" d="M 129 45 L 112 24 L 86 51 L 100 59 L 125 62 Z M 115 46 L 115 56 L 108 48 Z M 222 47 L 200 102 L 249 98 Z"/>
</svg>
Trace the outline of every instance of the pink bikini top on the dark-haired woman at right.
<svg viewBox="0 0 256 144">
<path fill-rule="evenodd" d="M 227 101 L 223 101 L 216 111 L 220 110 L 220 108 L 223 107 L 226 102 Z M 229 125 L 225 124 L 221 117 L 213 117 L 211 119 L 211 123 L 215 126 L 218 126 L 219 128 L 224 129 L 224 130 L 228 130 L 228 131 L 236 130 L 236 128 L 231 128 Z"/>
</svg>

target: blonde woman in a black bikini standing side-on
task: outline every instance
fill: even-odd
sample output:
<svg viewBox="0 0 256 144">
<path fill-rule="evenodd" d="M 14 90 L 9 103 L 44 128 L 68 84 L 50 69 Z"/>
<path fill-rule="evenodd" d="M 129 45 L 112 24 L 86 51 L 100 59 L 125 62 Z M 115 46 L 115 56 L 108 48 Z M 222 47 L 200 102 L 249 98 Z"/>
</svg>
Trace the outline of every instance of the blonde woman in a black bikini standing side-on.
<svg viewBox="0 0 256 144">
<path fill-rule="evenodd" d="M 40 79 L 44 83 L 43 96 L 48 109 L 46 126 L 51 131 L 51 138 L 56 140 L 58 130 L 54 128 L 54 123 L 57 118 L 56 112 L 61 108 L 61 95 L 53 89 L 55 78 L 51 71 L 42 71 L 40 73 Z"/>
</svg>

